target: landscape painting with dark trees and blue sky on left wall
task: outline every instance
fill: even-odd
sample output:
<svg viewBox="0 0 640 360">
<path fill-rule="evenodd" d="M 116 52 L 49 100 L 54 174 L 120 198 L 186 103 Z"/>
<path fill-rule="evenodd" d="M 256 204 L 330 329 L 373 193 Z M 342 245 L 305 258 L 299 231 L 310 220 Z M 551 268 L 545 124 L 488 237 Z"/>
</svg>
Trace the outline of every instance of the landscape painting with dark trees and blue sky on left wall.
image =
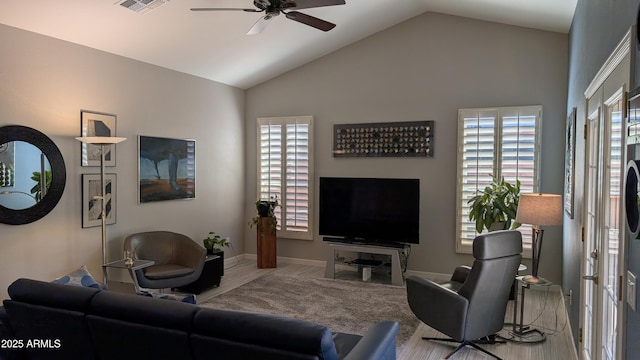
<svg viewBox="0 0 640 360">
<path fill-rule="evenodd" d="M 138 136 L 139 203 L 196 196 L 196 142 Z"/>
</svg>

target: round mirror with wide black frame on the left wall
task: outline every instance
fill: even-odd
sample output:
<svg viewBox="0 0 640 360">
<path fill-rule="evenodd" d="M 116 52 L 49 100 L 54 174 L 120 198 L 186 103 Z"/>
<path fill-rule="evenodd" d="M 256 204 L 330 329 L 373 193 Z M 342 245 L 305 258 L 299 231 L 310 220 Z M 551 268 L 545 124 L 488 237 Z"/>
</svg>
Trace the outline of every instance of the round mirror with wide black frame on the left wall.
<svg viewBox="0 0 640 360">
<path fill-rule="evenodd" d="M 39 220 L 58 204 L 67 180 L 56 144 L 38 130 L 0 127 L 0 223 Z"/>
</svg>

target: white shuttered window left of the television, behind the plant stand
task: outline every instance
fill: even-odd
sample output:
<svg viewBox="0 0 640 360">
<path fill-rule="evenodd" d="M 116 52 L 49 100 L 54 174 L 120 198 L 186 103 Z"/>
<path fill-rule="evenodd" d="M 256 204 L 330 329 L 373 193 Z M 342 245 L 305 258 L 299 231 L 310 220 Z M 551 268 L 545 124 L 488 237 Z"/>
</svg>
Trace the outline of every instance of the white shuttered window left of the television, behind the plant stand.
<svg viewBox="0 0 640 360">
<path fill-rule="evenodd" d="M 313 117 L 258 119 L 258 194 L 277 198 L 278 236 L 312 239 Z"/>
</svg>

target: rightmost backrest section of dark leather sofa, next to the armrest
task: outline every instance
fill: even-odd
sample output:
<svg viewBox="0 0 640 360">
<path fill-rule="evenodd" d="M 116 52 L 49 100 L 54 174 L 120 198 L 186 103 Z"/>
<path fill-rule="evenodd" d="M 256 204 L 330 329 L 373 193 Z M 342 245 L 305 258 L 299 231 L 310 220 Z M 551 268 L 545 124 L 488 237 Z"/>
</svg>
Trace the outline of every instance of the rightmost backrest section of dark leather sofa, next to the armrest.
<svg viewBox="0 0 640 360">
<path fill-rule="evenodd" d="M 191 337 L 195 359 L 338 359 L 328 328 L 269 314 L 202 308 Z"/>
</svg>

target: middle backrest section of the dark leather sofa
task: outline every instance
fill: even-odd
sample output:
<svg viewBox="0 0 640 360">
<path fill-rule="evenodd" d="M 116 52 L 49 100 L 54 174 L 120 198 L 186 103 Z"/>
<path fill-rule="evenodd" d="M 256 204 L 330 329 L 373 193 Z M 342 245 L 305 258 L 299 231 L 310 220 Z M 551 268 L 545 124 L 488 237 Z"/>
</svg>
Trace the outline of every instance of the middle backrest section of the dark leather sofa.
<svg viewBox="0 0 640 360">
<path fill-rule="evenodd" d="M 189 360 L 189 333 L 198 309 L 178 301 L 102 291 L 92 301 L 87 322 L 101 358 Z"/>
</svg>

